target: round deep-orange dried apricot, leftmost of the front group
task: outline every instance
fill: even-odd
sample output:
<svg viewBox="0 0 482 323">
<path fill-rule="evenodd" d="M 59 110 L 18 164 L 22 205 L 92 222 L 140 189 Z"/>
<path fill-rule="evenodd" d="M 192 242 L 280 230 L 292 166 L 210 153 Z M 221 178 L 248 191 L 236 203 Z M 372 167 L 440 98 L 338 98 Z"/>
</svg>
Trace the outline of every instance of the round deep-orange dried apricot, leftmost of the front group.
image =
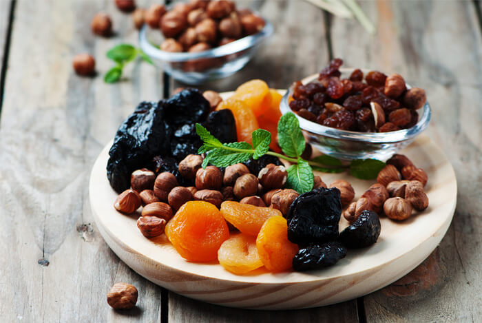
<svg viewBox="0 0 482 323">
<path fill-rule="evenodd" d="M 166 236 L 182 258 L 207 262 L 218 258 L 218 249 L 229 238 L 220 211 L 204 201 L 186 202 L 166 225 Z"/>
</svg>

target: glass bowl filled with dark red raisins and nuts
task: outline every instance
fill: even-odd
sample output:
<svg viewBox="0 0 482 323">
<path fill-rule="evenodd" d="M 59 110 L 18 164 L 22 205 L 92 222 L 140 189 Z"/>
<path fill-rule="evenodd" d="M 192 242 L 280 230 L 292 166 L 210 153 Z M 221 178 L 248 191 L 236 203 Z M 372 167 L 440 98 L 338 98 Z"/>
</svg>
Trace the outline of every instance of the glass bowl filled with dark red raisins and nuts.
<svg viewBox="0 0 482 323">
<path fill-rule="evenodd" d="M 294 112 L 308 142 L 342 160 L 386 160 L 408 146 L 430 122 L 425 91 L 402 76 L 340 68 L 333 59 L 321 73 L 296 81 L 280 103 Z"/>
</svg>

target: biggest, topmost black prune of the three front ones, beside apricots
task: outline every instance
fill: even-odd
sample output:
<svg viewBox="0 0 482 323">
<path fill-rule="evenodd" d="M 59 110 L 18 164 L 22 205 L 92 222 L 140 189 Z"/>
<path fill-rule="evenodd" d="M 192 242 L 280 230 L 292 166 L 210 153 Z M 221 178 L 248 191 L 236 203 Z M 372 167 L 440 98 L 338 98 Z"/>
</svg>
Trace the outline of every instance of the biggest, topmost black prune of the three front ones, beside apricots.
<svg viewBox="0 0 482 323">
<path fill-rule="evenodd" d="M 335 240 L 341 213 L 342 202 L 336 187 L 308 191 L 295 199 L 286 214 L 288 239 L 302 245 Z"/>
</svg>

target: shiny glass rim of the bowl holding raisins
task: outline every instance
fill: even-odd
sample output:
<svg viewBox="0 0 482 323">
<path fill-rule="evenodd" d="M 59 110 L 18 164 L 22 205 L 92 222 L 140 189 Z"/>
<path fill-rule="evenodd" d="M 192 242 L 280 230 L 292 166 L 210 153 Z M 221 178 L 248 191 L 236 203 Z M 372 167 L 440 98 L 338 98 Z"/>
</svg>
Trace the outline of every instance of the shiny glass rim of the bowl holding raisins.
<svg viewBox="0 0 482 323">
<path fill-rule="evenodd" d="M 352 67 L 342 67 L 339 69 L 342 74 L 346 74 L 349 72 L 353 72 L 355 68 Z M 364 73 L 369 72 L 370 70 L 363 68 L 361 69 Z M 302 79 L 302 83 L 306 84 L 311 81 L 317 80 L 319 74 L 313 74 L 307 76 L 306 78 Z M 406 83 L 407 89 L 412 88 L 410 84 Z M 286 94 L 284 94 L 282 101 L 280 103 L 280 111 L 282 114 L 286 114 L 289 112 L 293 112 L 289 107 L 289 97 L 293 92 L 293 86 L 290 86 L 286 90 Z M 300 121 L 300 127 L 305 130 L 306 132 L 311 132 L 312 134 L 317 134 L 320 136 L 326 136 L 330 138 L 337 138 L 337 139 L 344 139 L 344 140 L 352 140 L 352 141 L 362 141 L 362 142 L 370 142 L 370 143 L 398 143 L 404 140 L 408 140 L 412 137 L 421 134 L 423 130 L 428 127 L 428 123 L 430 122 L 430 118 L 432 115 L 430 108 L 430 104 L 428 101 L 423 105 L 423 113 L 421 114 L 419 121 L 413 127 L 408 129 L 401 129 L 395 132 L 353 132 L 348 130 L 341 130 L 332 127 L 326 127 L 325 125 L 319 125 L 319 123 L 314 123 L 312 121 L 308 121 L 301 116 L 297 117 L 298 121 Z"/>
</svg>

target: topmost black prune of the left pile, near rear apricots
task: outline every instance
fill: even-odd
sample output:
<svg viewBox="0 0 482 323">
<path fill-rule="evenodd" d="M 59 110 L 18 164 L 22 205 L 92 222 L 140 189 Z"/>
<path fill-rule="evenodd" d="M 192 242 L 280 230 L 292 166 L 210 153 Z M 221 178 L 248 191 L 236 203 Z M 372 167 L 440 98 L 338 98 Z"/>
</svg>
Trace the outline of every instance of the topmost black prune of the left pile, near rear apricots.
<svg viewBox="0 0 482 323">
<path fill-rule="evenodd" d="M 161 101 L 161 104 L 167 123 L 174 127 L 204 121 L 211 108 L 206 98 L 196 89 L 182 90 L 169 99 Z"/>
</svg>

